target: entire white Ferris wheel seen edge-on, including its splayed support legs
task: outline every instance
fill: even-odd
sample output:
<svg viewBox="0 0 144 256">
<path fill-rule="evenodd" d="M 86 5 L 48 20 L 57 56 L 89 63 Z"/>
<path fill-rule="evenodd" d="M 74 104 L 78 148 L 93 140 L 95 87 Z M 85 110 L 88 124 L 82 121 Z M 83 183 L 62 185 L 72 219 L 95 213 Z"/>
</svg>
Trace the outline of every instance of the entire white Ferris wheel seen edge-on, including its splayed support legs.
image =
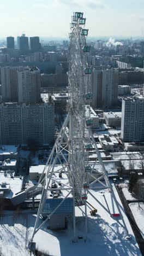
<svg viewBox="0 0 144 256">
<path fill-rule="evenodd" d="M 75 12 L 71 17 L 68 115 L 43 173 L 41 173 L 38 184 L 29 192 L 34 194 L 36 190 L 43 188 L 32 240 L 41 226 L 58 211 L 58 208 L 69 196 L 73 198 L 74 240 L 76 239 L 75 207 L 85 206 L 85 237 L 87 237 L 87 196 L 92 196 L 95 199 L 92 189 L 109 189 L 116 201 L 118 211 L 121 213 L 92 133 L 93 119 L 91 119 L 90 107 L 93 96 L 91 89 L 92 68 L 88 64 L 90 46 L 86 43 L 88 30 L 85 28 L 85 24 L 86 18 L 83 18 L 83 13 Z M 88 154 L 91 150 L 97 155 L 92 164 L 89 162 Z M 97 160 L 99 161 L 99 170 L 95 170 Z M 62 177 L 63 173 L 67 177 L 68 183 L 61 181 L 61 193 L 58 193 L 59 179 L 57 177 Z M 93 181 L 91 181 L 91 177 Z M 97 185 L 98 183 L 99 185 Z M 47 212 L 43 223 L 38 225 L 40 216 L 43 216 L 47 200 L 50 204 L 52 202 L 50 196 L 55 200 L 56 195 L 58 195 L 59 203 L 51 212 Z M 124 220 L 123 224 L 125 226 Z M 126 226 L 125 229 L 127 230 Z"/>
</svg>

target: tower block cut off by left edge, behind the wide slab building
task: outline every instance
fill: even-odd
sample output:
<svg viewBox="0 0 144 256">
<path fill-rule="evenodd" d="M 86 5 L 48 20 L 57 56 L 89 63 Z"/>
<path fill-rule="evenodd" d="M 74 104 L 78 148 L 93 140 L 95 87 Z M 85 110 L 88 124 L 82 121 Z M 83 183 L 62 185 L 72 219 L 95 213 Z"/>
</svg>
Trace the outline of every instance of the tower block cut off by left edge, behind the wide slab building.
<svg viewBox="0 0 144 256">
<path fill-rule="evenodd" d="M 1 67 L 2 100 L 17 102 L 17 71 L 25 67 Z"/>
</svg>

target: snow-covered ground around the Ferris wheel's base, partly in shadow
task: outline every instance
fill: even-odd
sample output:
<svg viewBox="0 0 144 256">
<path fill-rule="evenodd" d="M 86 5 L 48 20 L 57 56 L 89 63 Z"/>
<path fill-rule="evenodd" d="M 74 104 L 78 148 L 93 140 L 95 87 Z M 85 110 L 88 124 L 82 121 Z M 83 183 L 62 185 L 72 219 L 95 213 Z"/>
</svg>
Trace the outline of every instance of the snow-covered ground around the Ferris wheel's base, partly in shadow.
<svg viewBox="0 0 144 256">
<path fill-rule="evenodd" d="M 122 215 L 127 225 L 131 240 L 127 240 L 121 217 L 111 217 L 112 213 L 118 213 L 111 193 L 107 190 L 93 191 L 97 201 L 88 194 L 90 202 L 98 212 L 96 217 L 89 213 L 91 206 L 87 206 L 88 214 L 88 236 L 87 242 L 79 240 L 73 243 L 73 228 L 69 224 L 68 229 L 52 231 L 43 226 L 34 237 L 36 247 L 43 249 L 53 256 L 87 256 L 87 255 L 141 255 L 136 243 L 133 231 L 125 215 L 122 203 L 118 197 L 115 187 L 113 187 L 117 197 Z M 105 192 L 105 193 L 101 193 Z M 102 207 L 104 206 L 104 208 Z M 85 237 L 85 222 L 83 219 L 84 206 L 76 207 L 76 231 L 77 236 Z M 26 243 L 32 237 L 36 216 L 32 214 L 16 214 L 14 216 L 1 216 L 0 226 L 0 248 L 4 256 L 27 256 Z"/>
</svg>

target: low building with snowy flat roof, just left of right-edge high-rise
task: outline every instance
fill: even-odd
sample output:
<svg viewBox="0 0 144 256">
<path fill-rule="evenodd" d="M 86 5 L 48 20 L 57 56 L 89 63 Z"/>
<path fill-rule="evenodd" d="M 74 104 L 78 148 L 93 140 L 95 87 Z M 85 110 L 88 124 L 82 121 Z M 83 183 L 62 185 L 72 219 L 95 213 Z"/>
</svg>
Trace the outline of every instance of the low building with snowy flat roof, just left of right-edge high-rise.
<svg viewBox="0 0 144 256">
<path fill-rule="evenodd" d="M 122 112 L 104 112 L 104 118 L 109 126 L 121 126 Z"/>
</svg>

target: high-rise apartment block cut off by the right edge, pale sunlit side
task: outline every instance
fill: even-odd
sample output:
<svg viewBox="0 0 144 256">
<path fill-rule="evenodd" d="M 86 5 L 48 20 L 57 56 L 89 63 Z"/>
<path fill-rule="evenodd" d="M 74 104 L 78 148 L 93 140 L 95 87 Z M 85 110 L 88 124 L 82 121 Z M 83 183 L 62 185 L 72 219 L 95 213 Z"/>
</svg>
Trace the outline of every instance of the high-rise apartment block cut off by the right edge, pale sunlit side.
<svg viewBox="0 0 144 256">
<path fill-rule="evenodd" d="M 122 100 L 121 138 L 129 142 L 144 140 L 144 97 Z"/>
</svg>

